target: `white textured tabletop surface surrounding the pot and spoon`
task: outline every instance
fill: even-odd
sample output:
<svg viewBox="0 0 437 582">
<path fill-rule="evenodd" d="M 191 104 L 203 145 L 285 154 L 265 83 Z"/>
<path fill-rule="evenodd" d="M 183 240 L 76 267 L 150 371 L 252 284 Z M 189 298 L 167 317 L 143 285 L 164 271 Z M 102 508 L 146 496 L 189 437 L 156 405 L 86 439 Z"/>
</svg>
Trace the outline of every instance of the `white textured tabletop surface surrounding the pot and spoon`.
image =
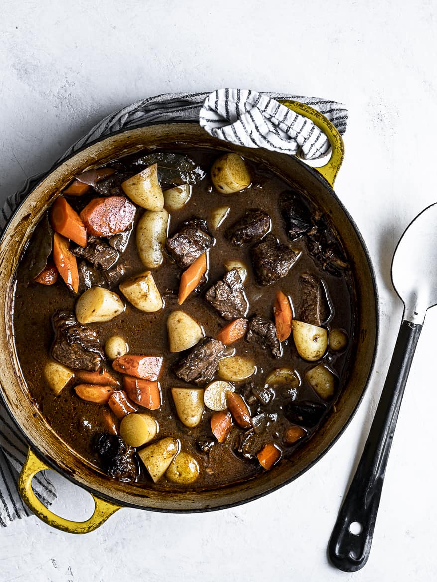
<svg viewBox="0 0 437 582">
<path fill-rule="evenodd" d="M 382 318 L 376 370 L 360 410 L 297 481 L 216 513 L 122 510 L 83 537 L 30 517 L 0 530 L 2 581 L 435 580 L 432 311 L 411 368 L 368 565 L 339 572 L 327 562 L 326 545 L 400 323 L 389 282 L 393 249 L 407 223 L 437 198 L 436 17 L 432 0 L 274 8 L 259 0 L 3 0 L 1 200 L 102 116 L 142 97 L 239 86 L 332 98 L 350 110 L 336 190 L 368 244 Z M 58 511 L 84 518 L 87 495 L 72 485 L 63 491 Z"/>
</svg>

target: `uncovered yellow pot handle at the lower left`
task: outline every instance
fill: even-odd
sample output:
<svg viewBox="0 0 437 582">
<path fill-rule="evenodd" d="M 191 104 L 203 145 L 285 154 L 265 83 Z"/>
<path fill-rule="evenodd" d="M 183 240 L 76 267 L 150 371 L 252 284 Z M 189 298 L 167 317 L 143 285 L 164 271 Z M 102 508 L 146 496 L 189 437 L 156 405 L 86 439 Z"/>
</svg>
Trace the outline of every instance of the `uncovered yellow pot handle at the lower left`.
<svg viewBox="0 0 437 582">
<path fill-rule="evenodd" d="M 121 506 L 104 501 L 91 493 L 90 495 L 94 499 L 95 507 L 94 513 L 89 519 L 86 521 L 70 521 L 69 519 L 64 519 L 64 517 L 57 516 L 41 503 L 32 489 L 32 480 L 34 476 L 44 469 L 51 469 L 51 467 L 44 463 L 44 461 L 29 449 L 26 462 L 20 473 L 18 490 L 29 509 L 49 526 L 55 527 L 58 530 L 66 531 L 69 534 L 87 534 L 89 531 L 96 530 L 97 527 L 101 526 L 101 524 L 108 519 L 108 517 L 121 509 Z"/>
</svg>

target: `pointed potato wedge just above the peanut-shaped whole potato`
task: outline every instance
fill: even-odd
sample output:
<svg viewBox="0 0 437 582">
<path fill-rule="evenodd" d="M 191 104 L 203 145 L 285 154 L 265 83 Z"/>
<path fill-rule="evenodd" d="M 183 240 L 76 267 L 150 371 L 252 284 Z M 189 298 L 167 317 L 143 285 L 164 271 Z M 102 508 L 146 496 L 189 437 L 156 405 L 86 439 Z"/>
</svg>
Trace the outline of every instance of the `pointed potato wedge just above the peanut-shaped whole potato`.
<svg viewBox="0 0 437 582">
<path fill-rule="evenodd" d="M 132 202 L 141 208 L 158 212 L 164 208 L 164 194 L 158 182 L 158 164 L 128 178 L 121 184 Z"/>
</svg>

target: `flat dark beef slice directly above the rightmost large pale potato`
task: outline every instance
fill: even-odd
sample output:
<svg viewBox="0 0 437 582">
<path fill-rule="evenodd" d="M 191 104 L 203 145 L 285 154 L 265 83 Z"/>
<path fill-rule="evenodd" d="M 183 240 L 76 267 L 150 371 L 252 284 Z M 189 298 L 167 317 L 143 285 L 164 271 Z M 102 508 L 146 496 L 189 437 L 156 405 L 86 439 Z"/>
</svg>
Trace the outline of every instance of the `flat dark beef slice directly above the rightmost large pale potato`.
<svg viewBox="0 0 437 582">
<path fill-rule="evenodd" d="M 302 300 L 299 320 L 311 325 L 322 325 L 331 315 L 323 283 L 310 273 L 302 273 L 300 279 Z"/>
</svg>

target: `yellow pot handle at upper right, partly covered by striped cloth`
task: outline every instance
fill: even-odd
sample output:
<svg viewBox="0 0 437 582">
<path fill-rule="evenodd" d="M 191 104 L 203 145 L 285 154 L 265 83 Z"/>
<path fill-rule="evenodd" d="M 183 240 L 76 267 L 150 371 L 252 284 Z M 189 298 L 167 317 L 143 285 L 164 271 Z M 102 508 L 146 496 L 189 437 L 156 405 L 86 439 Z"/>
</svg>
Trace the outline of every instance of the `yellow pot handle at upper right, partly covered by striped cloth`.
<svg viewBox="0 0 437 582">
<path fill-rule="evenodd" d="M 329 143 L 332 146 L 332 155 L 329 161 L 324 166 L 313 169 L 319 172 L 319 174 L 325 178 L 326 182 L 331 186 L 334 186 L 335 179 L 337 178 L 337 174 L 340 171 L 344 159 L 344 141 L 339 130 L 337 130 L 337 127 L 322 115 L 322 113 L 316 111 L 316 109 L 313 109 L 312 107 L 308 107 L 308 105 L 304 105 L 297 101 L 280 101 L 280 103 L 288 107 L 288 109 L 291 109 L 291 111 L 311 119 L 314 125 L 322 130 L 329 140 Z"/>
</svg>

